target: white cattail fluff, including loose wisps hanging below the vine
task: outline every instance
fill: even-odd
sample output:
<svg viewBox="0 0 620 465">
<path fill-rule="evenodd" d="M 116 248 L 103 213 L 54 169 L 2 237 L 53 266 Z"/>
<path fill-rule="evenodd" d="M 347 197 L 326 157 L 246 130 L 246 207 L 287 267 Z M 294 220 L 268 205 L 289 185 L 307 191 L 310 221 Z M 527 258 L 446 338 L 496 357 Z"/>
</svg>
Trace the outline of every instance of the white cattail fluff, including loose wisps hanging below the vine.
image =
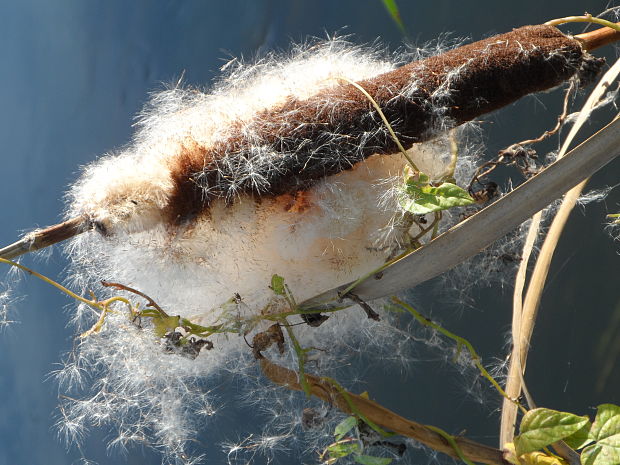
<svg viewBox="0 0 620 465">
<path fill-rule="evenodd" d="M 338 78 L 359 81 L 394 66 L 372 50 L 333 40 L 253 65 L 232 63 L 207 93 L 175 87 L 154 95 L 134 142 L 86 166 L 70 190 L 67 216 L 86 215 L 103 232 L 82 234 L 68 247 L 75 283 L 96 289 L 100 299 L 117 294 L 101 289 L 100 280 L 122 283 L 170 315 L 215 325 L 260 314 L 274 302 L 284 305 L 269 288 L 274 274 L 302 301 L 383 264 L 408 234 L 396 194 L 405 167 L 401 154 L 371 156 L 298 194 L 257 199 L 233 191 L 192 221 L 171 223 L 165 208 L 174 188 L 171 172 L 188 147 L 214 147 L 240 127 L 251 141 L 262 110 L 291 96 L 309 98 L 341 84 Z M 378 121 L 375 130 L 386 129 Z M 255 153 L 235 176 L 250 177 L 261 192 L 269 187 L 269 170 L 278 169 L 278 154 L 260 141 Z M 415 146 L 409 154 L 431 178 L 443 175 L 451 158 L 442 140 Z M 140 328 L 123 311 L 108 314 L 101 331 L 83 339 L 59 371 L 67 398 L 80 399 L 62 406 L 61 431 L 71 441 L 89 426 L 112 425 L 112 447 L 148 444 L 161 448 L 166 460 L 192 463 L 188 441 L 217 409 L 207 387 L 222 369 L 256 369 L 241 333 L 264 326 L 215 335 L 213 348 L 190 360 L 166 354 L 148 323 Z M 366 338 L 371 325 L 372 341 L 388 334 L 386 323 L 369 321 L 359 309 L 340 313 L 318 328 L 295 327 L 304 347 L 329 349 L 317 352 L 321 373 L 339 359 L 339 347 Z M 98 317 L 83 306 L 76 321 L 87 328 Z M 409 340 L 403 333 L 398 338 L 401 344 Z M 372 344 L 366 339 L 366 346 Z M 296 367 L 293 355 L 279 363 Z M 82 384 L 84 373 L 90 382 Z"/>
</svg>

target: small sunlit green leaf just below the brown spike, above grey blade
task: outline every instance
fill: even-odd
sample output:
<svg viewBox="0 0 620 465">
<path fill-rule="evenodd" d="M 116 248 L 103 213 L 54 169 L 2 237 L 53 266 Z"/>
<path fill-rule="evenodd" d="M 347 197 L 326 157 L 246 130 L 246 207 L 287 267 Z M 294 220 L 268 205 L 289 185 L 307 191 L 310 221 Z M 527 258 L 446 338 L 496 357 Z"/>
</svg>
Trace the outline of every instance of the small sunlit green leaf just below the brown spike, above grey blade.
<svg viewBox="0 0 620 465">
<path fill-rule="evenodd" d="M 414 215 L 425 215 L 474 203 L 474 199 L 465 189 L 449 182 L 431 186 L 428 184 L 428 176 L 422 173 L 417 180 L 415 177 L 407 179 L 406 186 L 407 195 L 401 198 L 400 206 Z"/>
</svg>

